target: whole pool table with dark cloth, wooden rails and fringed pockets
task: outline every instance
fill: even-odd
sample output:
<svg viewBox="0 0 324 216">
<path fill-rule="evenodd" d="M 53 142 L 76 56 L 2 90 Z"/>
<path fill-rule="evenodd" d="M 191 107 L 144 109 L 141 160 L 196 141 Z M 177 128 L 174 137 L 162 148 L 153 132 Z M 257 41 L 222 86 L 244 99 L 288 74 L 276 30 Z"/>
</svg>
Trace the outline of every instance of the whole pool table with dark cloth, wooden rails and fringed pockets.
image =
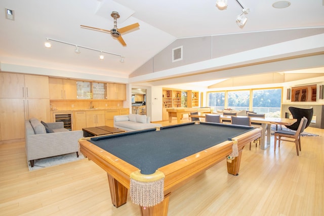
<svg viewBox="0 0 324 216">
<path fill-rule="evenodd" d="M 260 136 L 260 128 L 189 122 L 85 138 L 79 144 L 107 172 L 115 207 L 127 202 L 130 190 L 141 215 L 167 215 L 170 194 L 216 163 L 227 160 L 228 173 L 238 175 L 242 149 Z M 229 157 L 232 150 L 236 157 Z"/>
</svg>

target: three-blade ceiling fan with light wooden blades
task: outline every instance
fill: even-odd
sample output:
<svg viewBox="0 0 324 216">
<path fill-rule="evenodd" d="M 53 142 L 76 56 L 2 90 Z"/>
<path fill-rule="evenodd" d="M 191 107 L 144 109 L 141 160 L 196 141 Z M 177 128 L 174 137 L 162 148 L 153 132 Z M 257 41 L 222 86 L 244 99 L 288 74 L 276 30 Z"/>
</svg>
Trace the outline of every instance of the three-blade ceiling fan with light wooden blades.
<svg viewBox="0 0 324 216">
<path fill-rule="evenodd" d="M 126 46 L 126 42 L 124 41 L 123 37 L 121 37 L 122 33 L 125 33 L 127 31 L 130 31 L 134 28 L 137 28 L 140 26 L 138 23 L 134 23 L 132 25 L 125 26 L 123 28 L 117 28 L 117 18 L 119 18 L 119 14 L 116 11 L 111 12 L 111 17 L 113 18 L 113 28 L 111 30 L 106 30 L 102 28 L 95 28 L 91 26 L 86 26 L 86 25 L 80 25 L 81 27 L 84 28 L 90 28 L 90 29 L 95 29 L 99 31 L 104 31 L 104 32 L 110 32 L 111 36 L 117 38 L 117 40 L 122 44 L 123 46 Z"/>
</svg>

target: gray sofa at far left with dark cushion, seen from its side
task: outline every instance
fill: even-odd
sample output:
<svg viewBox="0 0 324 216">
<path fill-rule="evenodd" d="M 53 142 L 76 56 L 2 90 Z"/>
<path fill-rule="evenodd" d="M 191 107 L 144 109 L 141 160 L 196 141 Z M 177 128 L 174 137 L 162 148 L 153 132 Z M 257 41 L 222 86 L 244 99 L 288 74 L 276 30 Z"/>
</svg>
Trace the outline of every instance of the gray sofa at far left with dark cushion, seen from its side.
<svg viewBox="0 0 324 216">
<path fill-rule="evenodd" d="M 62 121 L 43 123 L 36 118 L 25 120 L 26 156 L 32 167 L 35 159 L 72 152 L 76 152 L 78 157 L 78 140 L 83 137 L 82 131 L 69 131 Z"/>
</svg>

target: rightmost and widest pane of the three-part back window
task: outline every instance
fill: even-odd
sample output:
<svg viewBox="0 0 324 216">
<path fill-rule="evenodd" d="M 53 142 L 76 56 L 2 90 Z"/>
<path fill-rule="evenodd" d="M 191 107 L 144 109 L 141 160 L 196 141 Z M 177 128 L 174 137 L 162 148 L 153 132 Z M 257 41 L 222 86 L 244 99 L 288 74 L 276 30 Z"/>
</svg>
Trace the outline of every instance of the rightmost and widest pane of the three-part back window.
<svg viewBox="0 0 324 216">
<path fill-rule="evenodd" d="M 252 110 L 266 117 L 280 117 L 281 89 L 263 89 L 252 91 Z"/>
</svg>

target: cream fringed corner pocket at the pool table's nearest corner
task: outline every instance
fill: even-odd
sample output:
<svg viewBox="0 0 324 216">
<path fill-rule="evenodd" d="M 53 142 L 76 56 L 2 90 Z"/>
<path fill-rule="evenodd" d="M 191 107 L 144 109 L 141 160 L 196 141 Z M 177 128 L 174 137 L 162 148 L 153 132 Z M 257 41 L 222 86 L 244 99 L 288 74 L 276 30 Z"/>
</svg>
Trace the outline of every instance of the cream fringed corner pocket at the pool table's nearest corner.
<svg viewBox="0 0 324 216">
<path fill-rule="evenodd" d="M 158 172 L 157 175 L 156 172 Z M 133 203 L 149 207 L 164 200 L 165 175 L 158 170 L 156 172 L 152 175 L 141 175 L 139 171 L 131 174 L 130 196 Z M 154 177 L 150 178 L 150 176 Z M 144 180 L 143 177 L 148 178 Z"/>
</svg>

